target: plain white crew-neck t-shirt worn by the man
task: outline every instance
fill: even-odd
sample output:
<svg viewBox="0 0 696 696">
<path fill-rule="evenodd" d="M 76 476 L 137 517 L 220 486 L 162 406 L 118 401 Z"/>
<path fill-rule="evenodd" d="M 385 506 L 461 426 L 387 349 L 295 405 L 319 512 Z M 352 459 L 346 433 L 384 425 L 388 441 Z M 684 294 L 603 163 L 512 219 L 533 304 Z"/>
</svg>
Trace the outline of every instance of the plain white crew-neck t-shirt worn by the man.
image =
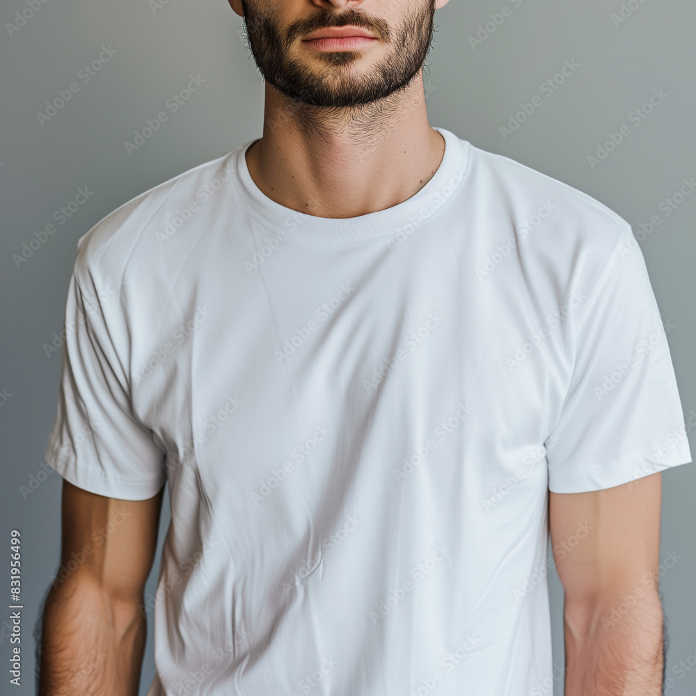
<svg viewBox="0 0 696 696">
<path fill-rule="evenodd" d="M 79 240 L 46 458 L 169 482 L 148 696 L 548 691 L 548 489 L 691 461 L 629 224 L 438 131 L 379 212 L 279 205 L 250 142 Z"/>
</svg>

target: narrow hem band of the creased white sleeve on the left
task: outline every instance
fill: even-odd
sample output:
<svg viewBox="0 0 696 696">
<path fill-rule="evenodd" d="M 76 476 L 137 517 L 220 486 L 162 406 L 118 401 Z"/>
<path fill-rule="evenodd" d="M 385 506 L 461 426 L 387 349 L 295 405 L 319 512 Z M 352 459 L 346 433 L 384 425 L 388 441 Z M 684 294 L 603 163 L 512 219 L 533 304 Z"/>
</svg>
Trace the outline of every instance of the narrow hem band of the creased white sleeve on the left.
<svg viewBox="0 0 696 696">
<path fill-rule="evenodd" d="M 95 469 L 81 462 L 77 468 L 77 460 L 65 459 L 58 455 L 58 449 L 49 444 L 45 454 L 46 463 L 56 470 L 68 483 L 73 486 L 95 493 L 106 498 L 119 500 L 148 500 L 157 495 L 166 483 L 166 475 L 157 479 L 141 481 L 123 481 L 104 476 Z"/>
</svg>

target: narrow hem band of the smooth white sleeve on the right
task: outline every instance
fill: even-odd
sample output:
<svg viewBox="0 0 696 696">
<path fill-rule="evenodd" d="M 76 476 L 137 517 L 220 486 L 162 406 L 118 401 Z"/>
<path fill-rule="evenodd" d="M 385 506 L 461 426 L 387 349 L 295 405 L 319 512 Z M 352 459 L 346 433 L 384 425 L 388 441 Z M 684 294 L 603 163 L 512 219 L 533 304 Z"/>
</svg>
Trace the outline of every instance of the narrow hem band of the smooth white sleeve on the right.
<svg viewBox="0 0 696 696">
<path fill-rule="evenodd" d="M 584 467 L 569 467 L 563 473 L 548 474 L 548 489 L 551 493 L 587 493 L 589 491 L 601 491 L 614 488 L 631 481 L 649 476 L 658 471 L 690 464 L 691 452 L 688 441 L 683 442 L 679 448 L 669 452 L 667 456 L 659 460 L 650 457 L 648 452 L 656 452 L 661 445 L 642 448 L 626 457 L 614 461 L 590 464 Z M 564 465 L 565 466 L 565 465 Z"/>
</svg>

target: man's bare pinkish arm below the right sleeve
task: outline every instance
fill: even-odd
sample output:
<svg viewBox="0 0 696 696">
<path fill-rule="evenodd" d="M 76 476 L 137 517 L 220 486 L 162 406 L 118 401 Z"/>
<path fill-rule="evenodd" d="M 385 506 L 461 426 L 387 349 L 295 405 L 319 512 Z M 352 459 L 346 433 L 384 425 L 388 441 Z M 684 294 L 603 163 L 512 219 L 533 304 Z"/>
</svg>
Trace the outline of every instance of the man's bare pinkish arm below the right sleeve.
<svg viewBox="0 0 696 696">
<path fill-rule="evenodd" d="M 660 473 L 603 491 L 550 493 L 565 591 L 566 696 L 662 693 L 661 496 Z"/>
</svg>

